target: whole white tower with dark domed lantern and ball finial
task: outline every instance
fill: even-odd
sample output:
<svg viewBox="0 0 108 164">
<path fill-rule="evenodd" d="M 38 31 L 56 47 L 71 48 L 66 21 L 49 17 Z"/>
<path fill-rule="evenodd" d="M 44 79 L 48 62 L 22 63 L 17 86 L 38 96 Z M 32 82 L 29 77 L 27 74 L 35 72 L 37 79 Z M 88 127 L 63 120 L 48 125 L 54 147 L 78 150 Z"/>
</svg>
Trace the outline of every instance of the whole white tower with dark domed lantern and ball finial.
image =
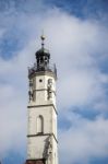
<svg viewBox="0 0 108 164">
<path fill-rule="evenodd" d="M 44 46 L 36 51 L 36 62 L 28 68 L 27 160 L 26 164 L 58 164 L 56 66 Z"/>
</svg>

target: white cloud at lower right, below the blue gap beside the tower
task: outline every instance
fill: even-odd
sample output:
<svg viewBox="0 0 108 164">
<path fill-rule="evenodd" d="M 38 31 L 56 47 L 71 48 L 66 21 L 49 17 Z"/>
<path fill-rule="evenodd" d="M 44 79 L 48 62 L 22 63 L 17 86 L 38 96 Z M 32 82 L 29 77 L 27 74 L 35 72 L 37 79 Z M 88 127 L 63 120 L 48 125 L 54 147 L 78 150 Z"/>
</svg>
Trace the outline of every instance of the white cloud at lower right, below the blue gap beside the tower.
<svg viewBox="0 0 108 164">
<path fill-rule="evenodd" d="M 72 126 L 59 137 L 60 163 L 89 164 L 92 157 L 105 157 L 108 152 L 108 120 L 101 116 L 87 120 L 70 114 Z"/>
</svg>

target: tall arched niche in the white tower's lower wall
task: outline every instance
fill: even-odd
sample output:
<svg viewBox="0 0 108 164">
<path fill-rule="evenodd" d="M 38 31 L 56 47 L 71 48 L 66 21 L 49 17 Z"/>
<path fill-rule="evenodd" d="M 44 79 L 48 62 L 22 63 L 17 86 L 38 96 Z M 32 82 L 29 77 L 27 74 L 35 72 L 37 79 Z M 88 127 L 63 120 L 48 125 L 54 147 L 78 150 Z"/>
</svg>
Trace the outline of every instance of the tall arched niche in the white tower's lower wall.
<svg viewBox="0 0 108 164">
<path fill-rule="evenodd" d="M 37 133 L 44 133 L 44 118 L 41 115 L 37 117 Z"/>
</svg>

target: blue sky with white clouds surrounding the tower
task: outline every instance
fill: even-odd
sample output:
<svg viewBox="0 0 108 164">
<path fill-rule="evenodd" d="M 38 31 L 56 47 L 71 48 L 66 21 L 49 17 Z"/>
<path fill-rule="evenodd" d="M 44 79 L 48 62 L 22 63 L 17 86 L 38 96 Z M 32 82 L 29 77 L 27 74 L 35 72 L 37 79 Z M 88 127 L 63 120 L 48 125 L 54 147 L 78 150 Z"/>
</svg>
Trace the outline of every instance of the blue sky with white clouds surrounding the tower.
<svg viewBox="0 0 108 164">
<path fill-rule="evenodd" d="M 27 67 L 43 28 L 58 68 L 59 164 L 108 164 L 107 0 L 0 0 L 0 161 L 26 160 Z"/>
</svg>

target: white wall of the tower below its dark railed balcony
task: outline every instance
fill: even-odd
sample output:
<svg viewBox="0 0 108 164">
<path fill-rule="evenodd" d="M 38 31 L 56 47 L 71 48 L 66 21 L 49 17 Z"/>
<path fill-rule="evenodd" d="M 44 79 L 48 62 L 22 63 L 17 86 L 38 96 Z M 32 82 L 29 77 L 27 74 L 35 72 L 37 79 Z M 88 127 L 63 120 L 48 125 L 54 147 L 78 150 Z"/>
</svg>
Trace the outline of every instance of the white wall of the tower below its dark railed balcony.
<svg viewBox="0 0 108 164">
<path fill-rule="evenodd" d="M 37 72 L 29 81 L 27 160 L 44 159 L 46 164 L 58 164 L 56 75 Z"/>
</svg>

